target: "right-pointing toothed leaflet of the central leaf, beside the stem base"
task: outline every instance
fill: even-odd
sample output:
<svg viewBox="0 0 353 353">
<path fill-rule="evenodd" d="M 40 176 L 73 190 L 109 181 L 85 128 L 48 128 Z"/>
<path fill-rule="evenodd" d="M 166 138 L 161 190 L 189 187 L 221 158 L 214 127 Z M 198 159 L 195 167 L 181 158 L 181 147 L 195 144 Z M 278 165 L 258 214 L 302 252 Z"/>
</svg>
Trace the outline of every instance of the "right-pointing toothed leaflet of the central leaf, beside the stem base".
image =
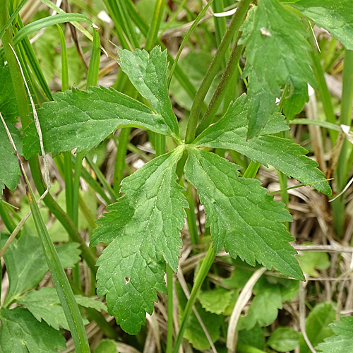
<svg viewBox="0 0 353 353">
<path fill-rule="evenodd" d="M 304 185 L 313 185 L 318 191 L 332 193 L 324 174 L 317 163 L 304 155 L 307 151 L 300 145 L 277 136 L 258 136 L 246 140 L 246 116 L 249 103 L 244 104 L 245 96 L 232 103 L 216 124 L 207 128 L 194 141 L 195 145 L 236 150 L 251 160 L 271 164 L 288 177 L 294 177 Z M 276 120 L 274 120 L 276 121 Z M 265 131 L 268 131 L 268 126 Z M 268 133 L 268 132 L 267 132 Z M 271 131 L 270 133 L 273 133 Z"/>
</svg>

